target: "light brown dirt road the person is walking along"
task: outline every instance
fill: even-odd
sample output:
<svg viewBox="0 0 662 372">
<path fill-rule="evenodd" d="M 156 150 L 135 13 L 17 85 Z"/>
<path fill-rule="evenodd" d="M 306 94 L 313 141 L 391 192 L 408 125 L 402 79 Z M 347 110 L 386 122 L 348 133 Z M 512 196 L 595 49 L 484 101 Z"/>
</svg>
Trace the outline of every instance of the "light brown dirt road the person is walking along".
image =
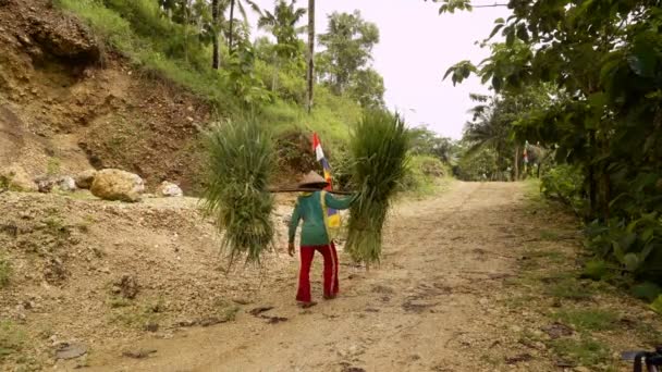
<svg viewBox="0 0 662 372">
<path fill-rule="evenodd" d="M 297 309 L 293 266 L 235 322 L 135 345 L 157 350 L 146 359 L 96 356 L 95 364 L 108 364 L 89 370 L 491 370 L 485 351 L 517 355 L 523 347 L 507 336 L 517 315 L 495 303 L 514 274 L 519 241 L 537 234 L 526 215 L 522 184 L 458 183 L 436 199 L 402 204 L 387 230 L 381 268 L 343 264 L 338 299 Z M 319 281 L 314 289 L 319 298 Z M 252 315 L 258 307 L 272 309 Z"/>
</svg>

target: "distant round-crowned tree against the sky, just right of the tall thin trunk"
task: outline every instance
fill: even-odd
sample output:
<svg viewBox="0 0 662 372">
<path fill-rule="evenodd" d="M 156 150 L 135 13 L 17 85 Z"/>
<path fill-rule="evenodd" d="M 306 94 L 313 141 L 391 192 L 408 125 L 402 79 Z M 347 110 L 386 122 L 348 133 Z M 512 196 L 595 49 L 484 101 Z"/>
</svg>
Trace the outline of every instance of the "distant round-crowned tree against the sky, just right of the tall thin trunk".
<svg viewBox="0 0 662 372">
<path fill-rule="evenodd" d="M 372 47 L 379 42 L 379 28 L 361 18 L 359 11 L 329 15 L 329 27 L 319 36 L 326 50 L 320 52 L 320 61 L 335 94 L 342 94 L 351 77 L 367 66 L 372 59 Z"/>
</svg>

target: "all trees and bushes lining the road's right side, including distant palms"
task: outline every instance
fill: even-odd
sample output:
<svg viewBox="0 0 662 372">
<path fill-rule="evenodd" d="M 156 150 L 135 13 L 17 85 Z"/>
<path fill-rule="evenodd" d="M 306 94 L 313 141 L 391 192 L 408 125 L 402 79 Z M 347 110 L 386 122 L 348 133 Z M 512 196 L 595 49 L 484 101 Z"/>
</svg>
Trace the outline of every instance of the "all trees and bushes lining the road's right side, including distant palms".
<svg viewBox="0 0 662 372">
<path fill-rule="evenodd" d="M 583 221 L 585 276 L 662 312 L 659 5 L 537 4 L 511 2 L 514 15 L 495 20 L 482 41 L 491 55 L 445 73 L 453 84 L 475 74 L 494 91 L 473 96 L 479 104 L 465 131 L 469 152 L 492 165 L 488 178 L 518 178 L 526 150 L 525 175 L 540 175 L 543 195 Z M 450 1 L 440 12 L 455 10 L 471 5 Z"/>
</svg>

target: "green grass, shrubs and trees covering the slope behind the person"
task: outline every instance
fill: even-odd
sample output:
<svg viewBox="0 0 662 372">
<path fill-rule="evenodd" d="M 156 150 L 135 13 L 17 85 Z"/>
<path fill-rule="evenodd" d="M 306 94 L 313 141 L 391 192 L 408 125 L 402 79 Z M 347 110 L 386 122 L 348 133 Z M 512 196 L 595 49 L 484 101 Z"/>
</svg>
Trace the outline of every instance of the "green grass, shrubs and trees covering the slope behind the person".
<svg viewBox="0 0 662 372">
<path fill-rule="evenodd" d="M 119 57 L 146 76 L 191 90 L 212 107 L 216 121 L 240 120 L 246 112 L 256 115 L 277 136 L 283 176 L 319 166 L 309 145 L 310 134 L 317 132 L 342 186 L 350 172 L 346 158 L 353 127 L 364 110 L 385 110 L 383 79 L 370 63 L 379 28 L 359 12 L 329 14 L 329 28 L 317 30 L 323 49 L 315 55 L 317 83 L 307 113 L 306 45 L 301 39 L 308 27 L 307 9 L 295 1 L 275 1 L 273 9 L 247 2 L 232 13 L 234 2 L 224 0 L 57 0 L 56 4 L 85 21 L 102 40 L 102 63 Z M 258 28 L 270 36 L 253 38 L 256 29 L 250 28 L 248 15 L 258 17 Z M 434 154 L 414 154 L 402 186 L 406 191 L 429 195 L 431 177 L 449 173 L 448 162 L 430 157 Z M 427 166 L 421 172 L 416 165 L 424 162 L 437 162 L 431 165 L 436 170 Z"/>
</svg>

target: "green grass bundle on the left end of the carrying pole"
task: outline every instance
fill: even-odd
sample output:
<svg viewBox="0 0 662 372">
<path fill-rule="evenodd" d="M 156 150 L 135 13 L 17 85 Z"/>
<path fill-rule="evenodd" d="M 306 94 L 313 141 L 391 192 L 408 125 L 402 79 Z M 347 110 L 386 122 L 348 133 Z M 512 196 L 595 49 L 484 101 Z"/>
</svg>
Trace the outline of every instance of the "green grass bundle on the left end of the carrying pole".
<svg viewBox="0 0 662 372">
<path fill-rule="evenodd" d="M 230 264 L 241 257 L 259 263 L 273 247 L 274 200 L 267 191 L 275 166 L 271 135 L 255 117 L 243 117 L 214 126 L 207 152 L 205 209 L 222 233 L 222 249 Z"/>
</svg>

